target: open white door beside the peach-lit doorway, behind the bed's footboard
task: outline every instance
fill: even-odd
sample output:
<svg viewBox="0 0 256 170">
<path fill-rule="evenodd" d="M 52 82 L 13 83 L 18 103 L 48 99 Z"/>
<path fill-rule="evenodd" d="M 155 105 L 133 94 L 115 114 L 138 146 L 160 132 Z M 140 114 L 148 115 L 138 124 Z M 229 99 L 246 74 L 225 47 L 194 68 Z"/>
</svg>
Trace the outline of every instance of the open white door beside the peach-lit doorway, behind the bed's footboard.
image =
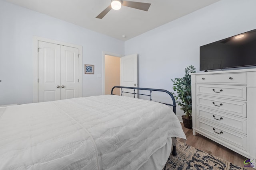
<svg viewBox="0 0 256 170">
<path fill-rule="evenodd" d="M 121 66 L 120 66 L 120 80 L 121 86 L 126 87 L 138 87 L 138 57 L 137 54 L 127 55 L 121 58 Z M 125 92 L 133 93 L 132 89 L 125 89 Z M 135 90 L 135 93 L 138 93 Z M 133 94 L 123 93 L 123 96 L 134 97 Z M 135 95 L 135 98 L 138 96 Z"/>
</svg>

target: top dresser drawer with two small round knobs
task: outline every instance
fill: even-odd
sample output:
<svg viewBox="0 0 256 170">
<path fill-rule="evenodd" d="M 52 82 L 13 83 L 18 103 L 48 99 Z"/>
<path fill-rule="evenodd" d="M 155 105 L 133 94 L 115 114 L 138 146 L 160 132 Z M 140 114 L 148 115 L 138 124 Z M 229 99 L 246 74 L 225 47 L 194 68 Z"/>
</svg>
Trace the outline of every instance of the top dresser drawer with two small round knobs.
<svg viewBox="0 0 256 170">
<path fill-rule="evenodd" d="M 201 83 L 246 83 L 246 73 L 196 75 Z"/>
</svg>

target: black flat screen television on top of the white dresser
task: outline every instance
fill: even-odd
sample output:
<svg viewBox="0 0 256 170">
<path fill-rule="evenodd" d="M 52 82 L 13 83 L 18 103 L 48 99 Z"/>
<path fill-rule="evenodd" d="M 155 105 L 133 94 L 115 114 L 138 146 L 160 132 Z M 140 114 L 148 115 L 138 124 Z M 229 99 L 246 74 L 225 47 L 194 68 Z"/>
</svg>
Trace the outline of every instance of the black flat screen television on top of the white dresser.
<svg viewBox="0 0 256 170">
<path fill-rule="evenodd" d="M 200 47 L 200 70 L 256 66 L 256 29 Z"/>
</svg>

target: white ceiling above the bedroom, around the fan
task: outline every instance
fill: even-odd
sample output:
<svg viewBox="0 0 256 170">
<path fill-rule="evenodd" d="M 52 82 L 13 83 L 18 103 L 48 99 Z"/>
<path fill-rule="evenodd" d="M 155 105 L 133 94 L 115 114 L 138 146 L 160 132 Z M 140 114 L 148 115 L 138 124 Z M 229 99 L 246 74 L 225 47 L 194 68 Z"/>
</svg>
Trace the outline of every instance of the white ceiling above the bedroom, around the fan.
<svg viewBox="0 0 256 170">
<path fill-rule="evenodd" d="M 103 19 L 95 17 L 110 5 L 110 0 L 5 1 L 126 41 L 219 0 L 131 0 L 151 6 L 148 12 L 122 6 L 110 10 Z"/>
</svg>

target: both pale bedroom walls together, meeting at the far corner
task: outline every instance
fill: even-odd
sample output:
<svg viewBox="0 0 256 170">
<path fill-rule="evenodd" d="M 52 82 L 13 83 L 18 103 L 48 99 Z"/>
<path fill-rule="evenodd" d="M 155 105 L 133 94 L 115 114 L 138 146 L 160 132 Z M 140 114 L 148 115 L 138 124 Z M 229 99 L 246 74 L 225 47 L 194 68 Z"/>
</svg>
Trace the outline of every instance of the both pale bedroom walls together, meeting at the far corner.
<svg viewBox="0 0 256 170">
<path fill-rule="evenodd" d="M 138 86 L 172 91 L 170 79 L 187 65 L 199 70 L 201 45 L 256 28 L 255 6 L 221 0 L 124 43 L 0 0 L 0 105 L 32 102 L 33 35 L 83 46 L 83 64 L 95 66 L 95 74 L 83 74 L 83 96 L 102 94 L 102 51 L 138 53 Z"/>
</svg>

